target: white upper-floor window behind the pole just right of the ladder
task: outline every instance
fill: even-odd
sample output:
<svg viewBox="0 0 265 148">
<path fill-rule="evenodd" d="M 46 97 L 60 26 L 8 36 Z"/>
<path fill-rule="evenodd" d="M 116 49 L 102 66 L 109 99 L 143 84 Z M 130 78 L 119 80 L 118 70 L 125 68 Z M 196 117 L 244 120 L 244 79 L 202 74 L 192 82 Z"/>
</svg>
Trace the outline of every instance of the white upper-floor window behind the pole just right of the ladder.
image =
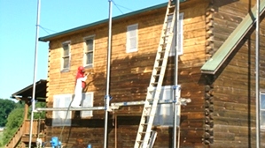
<svg viewBox="0 0 265 148">
<path fill-rule="evenodd" d="M 179 13 L 179 28 L 178 28 L 178 47 L 177 47 L 177 55 L 183 55 L 183 19 L 184 19 L 184 13 Z M 175 30 L 175 29 L 174 29 Z M 175 35 L 172 38 L 172 40 L 175 40 Z M 175 56 L 175 41 L 172 41 L 172 46 L 170 48 L 169 56 Z"/>
</svg>

